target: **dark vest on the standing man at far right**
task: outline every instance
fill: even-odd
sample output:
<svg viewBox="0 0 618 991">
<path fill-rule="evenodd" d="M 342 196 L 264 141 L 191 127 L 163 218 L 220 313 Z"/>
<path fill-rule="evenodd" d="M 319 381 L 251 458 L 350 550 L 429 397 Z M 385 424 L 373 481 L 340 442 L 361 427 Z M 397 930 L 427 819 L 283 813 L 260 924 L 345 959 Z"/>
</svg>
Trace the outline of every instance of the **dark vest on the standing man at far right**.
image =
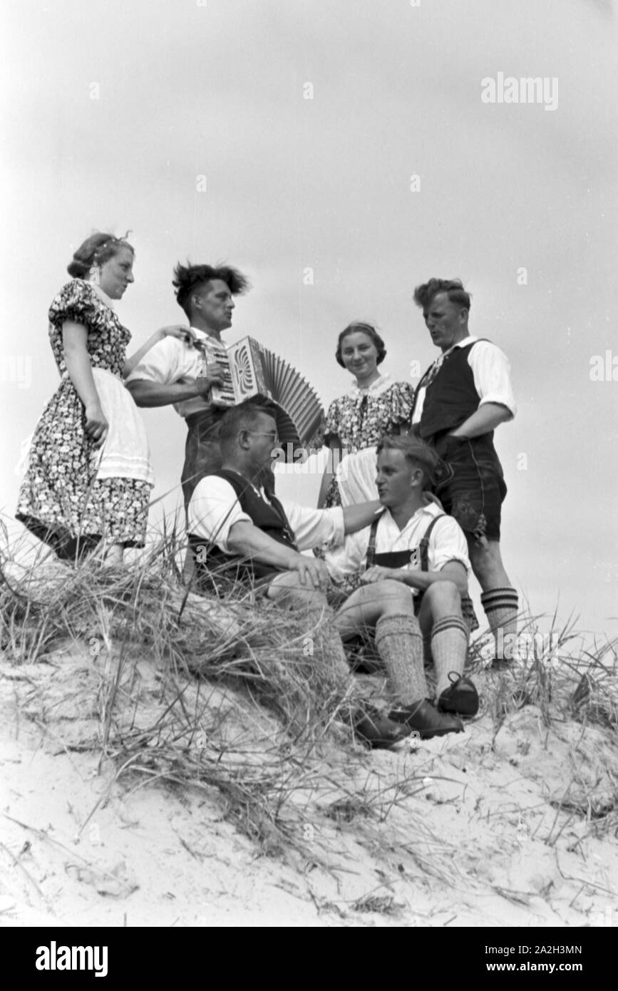
<svg viewBox="0 0 618 991">
<path fill-rule="evenodd" d="M 478 409 L 480 396 L 474 386 L 472 370 L 467 363 L 470 349 L 476 343 L 477 341 L 472 341 L 464 347 L 454 348 L 445 358 L 435 379 L 427 386 L 420 422 L 420 435 L 423 440 L 436 439 L 437 435 L 455 430 Z M 419 382 L 417 395 L 432 368 L 433 365 Z"/>
</svg>

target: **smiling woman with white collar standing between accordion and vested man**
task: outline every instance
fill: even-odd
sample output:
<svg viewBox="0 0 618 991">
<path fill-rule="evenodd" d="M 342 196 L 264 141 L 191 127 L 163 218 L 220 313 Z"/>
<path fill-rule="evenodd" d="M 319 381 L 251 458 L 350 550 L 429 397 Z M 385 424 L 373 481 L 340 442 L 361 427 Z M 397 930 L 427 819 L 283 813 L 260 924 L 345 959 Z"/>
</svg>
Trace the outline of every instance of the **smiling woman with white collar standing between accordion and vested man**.
<svg viewBox="0 0 618 991">
<path fill-rule="evenodd" d="M 407 433 L 414 387 L 380 375 L 384 342 L 369 323 L 351 323 L 339 335 L 335 357 L 355 377 L 326 415 L 324 442 L 331 456 L 318 506 L 353 505 L 377 498 L 375 447 L 384 434 Z"/>
</svg>

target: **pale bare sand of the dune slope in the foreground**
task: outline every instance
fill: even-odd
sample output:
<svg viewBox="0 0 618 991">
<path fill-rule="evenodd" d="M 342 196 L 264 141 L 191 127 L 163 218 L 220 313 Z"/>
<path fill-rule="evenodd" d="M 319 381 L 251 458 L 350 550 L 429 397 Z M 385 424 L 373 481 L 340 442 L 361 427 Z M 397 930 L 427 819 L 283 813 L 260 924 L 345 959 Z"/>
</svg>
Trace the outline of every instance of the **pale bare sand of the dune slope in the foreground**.
<svg viewBox="0 0 618 991">
<path fill-rule="evenodd" d="M 97 738 L 97 663 L 0 665 L 1 924 L 618 924 L 610 730 L 527 706 L 354 767 L 326 746 L 282 812 L 298 845 L 268 856 L 216 790 L 115 782 L 76 749 Z M 136 677 L 152 718 L 156 673 Z"/>
</svg>

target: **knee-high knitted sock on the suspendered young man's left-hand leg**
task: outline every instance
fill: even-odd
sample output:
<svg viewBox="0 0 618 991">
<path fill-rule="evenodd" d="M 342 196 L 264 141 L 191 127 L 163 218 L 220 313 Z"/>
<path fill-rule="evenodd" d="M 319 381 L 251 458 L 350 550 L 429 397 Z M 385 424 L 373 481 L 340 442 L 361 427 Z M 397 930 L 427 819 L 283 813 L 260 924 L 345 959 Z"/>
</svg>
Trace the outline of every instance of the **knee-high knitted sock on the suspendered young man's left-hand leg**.
<svg viewBox="0 0 618 991">
<path fill-rule="evenodd" d="M 375 646 L 388 674 L 395 701 L 411 706 L 427 696 L 423 637 L 409 613 L 382 616 L 375 624 Z"/>
</svg>

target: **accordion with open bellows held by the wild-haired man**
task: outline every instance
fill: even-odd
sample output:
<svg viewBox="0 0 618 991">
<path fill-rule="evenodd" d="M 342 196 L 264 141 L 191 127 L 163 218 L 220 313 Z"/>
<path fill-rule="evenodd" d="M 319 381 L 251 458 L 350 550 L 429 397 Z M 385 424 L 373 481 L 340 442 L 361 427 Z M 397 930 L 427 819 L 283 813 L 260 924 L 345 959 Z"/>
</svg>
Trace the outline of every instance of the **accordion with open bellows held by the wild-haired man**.
<svg viewBox="0 0 618 991">
<path fill-rule="evenodd" d="M 208 341 L 204 351 L 208 361 L 216 361 L 224 372 L 224 385 L 215 385 L 211 391 L 215 405 L 236 406 L 244 399 L 263 396 L 269 400 L 266 405 L 276 406 L 273 414 L 284 451 L 290 450 L 288 444 L 298 447 L 317 440 L 324 419 L 322 403 L 315 389 L 291 365 L 253 337 L 244 337 L 228 348 Z"/>
</svg>

